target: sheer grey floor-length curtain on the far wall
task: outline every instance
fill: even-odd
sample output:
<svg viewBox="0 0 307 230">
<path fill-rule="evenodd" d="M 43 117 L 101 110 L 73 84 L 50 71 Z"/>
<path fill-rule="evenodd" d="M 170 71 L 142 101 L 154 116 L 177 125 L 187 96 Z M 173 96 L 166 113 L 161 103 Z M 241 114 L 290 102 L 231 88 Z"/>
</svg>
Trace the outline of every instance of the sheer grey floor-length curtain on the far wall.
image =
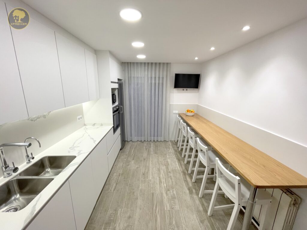
<svg viewBox="0 0 307 230">
<path fill-rule="evenodd" d="M 126 139 L 169 140 L 170 63 L 122 63 Z"/>
</svg>

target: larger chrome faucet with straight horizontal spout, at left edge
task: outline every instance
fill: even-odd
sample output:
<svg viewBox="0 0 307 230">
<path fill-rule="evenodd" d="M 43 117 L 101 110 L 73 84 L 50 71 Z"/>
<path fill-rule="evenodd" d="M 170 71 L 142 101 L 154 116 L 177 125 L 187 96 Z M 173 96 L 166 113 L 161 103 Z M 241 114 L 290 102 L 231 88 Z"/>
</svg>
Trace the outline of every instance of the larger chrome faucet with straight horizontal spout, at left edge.
<svg viewBox="0 0 307 230">
<path fill-rule="evenodd" d="M 14 162 L 12 162 L 13 167 L 6 162 L 3 147 L 30 147 L 31 143 L 5 143 L 0 145 L 0 159 L 1 159 L 1 170 L 3 173 L 3 177 L 9 177 L 12 173 L 18 172 L 19 168 L 15 167 Z"/>
</svg>

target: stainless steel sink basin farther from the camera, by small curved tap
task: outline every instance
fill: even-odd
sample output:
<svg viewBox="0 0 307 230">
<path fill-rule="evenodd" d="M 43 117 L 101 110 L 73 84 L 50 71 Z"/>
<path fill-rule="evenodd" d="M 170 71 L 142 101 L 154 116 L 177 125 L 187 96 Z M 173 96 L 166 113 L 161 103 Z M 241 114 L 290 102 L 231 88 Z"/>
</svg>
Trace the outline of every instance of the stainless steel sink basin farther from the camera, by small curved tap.
<svg viewBox="0 0 307 230">
<path fill-rule="evenodd" d="M 76 156 L 45 156 L 29 168 L 21 172 L 20 176 L 56 176 L 66 168 Z"/>
</svg>

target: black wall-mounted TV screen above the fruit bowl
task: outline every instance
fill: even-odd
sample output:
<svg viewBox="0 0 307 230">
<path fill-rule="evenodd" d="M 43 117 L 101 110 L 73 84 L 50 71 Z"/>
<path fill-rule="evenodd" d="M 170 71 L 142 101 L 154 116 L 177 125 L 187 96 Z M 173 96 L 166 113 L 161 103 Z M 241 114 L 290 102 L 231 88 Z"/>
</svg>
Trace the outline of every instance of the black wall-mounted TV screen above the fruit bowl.
<svg viewBox="0 0 307 230">
<path fill-rule="evenodd" d="M 175 74 L 175 89 L 198 89 L 200 74 Z"/>
</svg>

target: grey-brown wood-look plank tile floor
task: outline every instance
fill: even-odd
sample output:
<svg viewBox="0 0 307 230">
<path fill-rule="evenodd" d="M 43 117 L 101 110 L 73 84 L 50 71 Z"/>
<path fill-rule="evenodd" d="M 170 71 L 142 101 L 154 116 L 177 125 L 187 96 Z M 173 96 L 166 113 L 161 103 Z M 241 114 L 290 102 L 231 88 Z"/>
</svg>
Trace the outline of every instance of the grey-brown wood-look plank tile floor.
<svg viewBox="0 0 307 230">
<path fill-rule="evenodd" d="M 192 182 L 174 141 L 126 142 L 113 165 L 86 230 L 221 229 L 232 209 L 208 217 L 211 194 L 199 198 L 202 179 Z M 193 171 L 192 171 L 193 172 Z M 207 189 L 215 182 L 209 178 Z M 230 204 L 218 195 L 217 205 Z M 235 229 L 241 229 L 240 211 Z M 250 230 L 256 230 L 251 225 Z"/>
</svg>

